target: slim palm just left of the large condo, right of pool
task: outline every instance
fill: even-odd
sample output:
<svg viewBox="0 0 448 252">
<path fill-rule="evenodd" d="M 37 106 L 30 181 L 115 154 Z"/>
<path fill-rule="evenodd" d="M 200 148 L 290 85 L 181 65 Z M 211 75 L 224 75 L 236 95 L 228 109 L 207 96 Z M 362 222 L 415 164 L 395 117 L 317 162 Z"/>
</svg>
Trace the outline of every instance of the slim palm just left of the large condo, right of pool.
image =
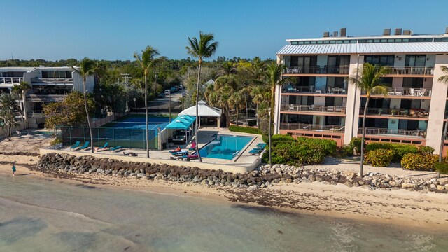
<svg viewBox="0 0 448 252">
<path fill-rule="evenodd" d="M 269 104 L 269 131 L 268 131 L 268 137 L 269 137 L 269 165 L 272 165 L 272 141 L 271 141 L 271 125 L 272 125 L 272 117 L 274 116 L 274 102 L 275 102 L 275 89 L 277 85 L 284 85 L 290 83 L 290 78 L 282 78 L 282 73 L 285 71 L 286 66 L 283 64 L 277 64 L 276 62 L 272 62 L 271 64 L 267 65 L 266 71 L 265 71 L 265 78 L 267 85 L 271 88 L 271 102 Z"/>
</svg>

